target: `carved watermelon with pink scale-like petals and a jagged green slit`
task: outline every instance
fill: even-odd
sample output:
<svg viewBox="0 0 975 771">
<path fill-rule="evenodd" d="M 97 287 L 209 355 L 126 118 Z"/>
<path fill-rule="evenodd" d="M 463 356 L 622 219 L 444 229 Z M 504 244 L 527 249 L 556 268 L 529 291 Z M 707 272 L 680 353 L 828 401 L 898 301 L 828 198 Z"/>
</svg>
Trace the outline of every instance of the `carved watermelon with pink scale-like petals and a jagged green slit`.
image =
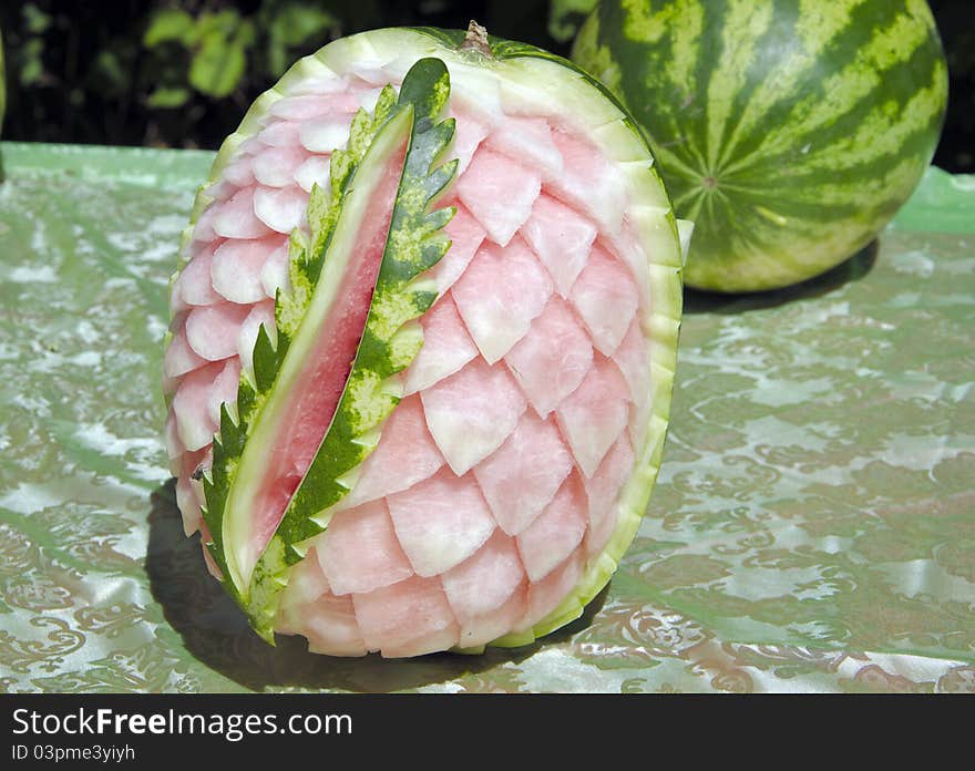
<svg viewBox="0 0 975 771">
<path fill-rule="evenodd" d="M 606 584 L 660 463 L 681 250 L 586 75 L 473 27 L 336 41 L 227 138 L 181 254 L 178 504 L 261 636 L 522 645 Z"/>
</svg>

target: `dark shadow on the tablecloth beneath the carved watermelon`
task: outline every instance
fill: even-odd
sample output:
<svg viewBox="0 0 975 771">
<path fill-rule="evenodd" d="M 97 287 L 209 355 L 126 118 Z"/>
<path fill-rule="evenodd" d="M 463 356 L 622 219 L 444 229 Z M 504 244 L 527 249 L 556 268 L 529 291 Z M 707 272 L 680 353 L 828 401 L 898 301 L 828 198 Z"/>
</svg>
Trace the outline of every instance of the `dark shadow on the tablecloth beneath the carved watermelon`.
<svg viewBox="0 0 975 771">
<path fill-rule="evenodd" d="M 296 636 L 278 636 L 277 646 L 271 647 L 254 634 L 240 609 L 207 573 L 199 534 L 191 538 L 183 534 L 175 480 L 153 492 L 151 504 L 145 572 L 153 597 L 193 658 L 255 691 L 290 687 L 387 692 L 456 678 L 463 678 L 465 689 L 496 688 L 496 677 L 481 679 L 479 675 L 566 642 L 589 626 L 606 597 L 604 589 L 579 618 L 543 641 L 513 649 L 489 648 L 481 656 L 448 652 L 391 660 L 371 654 L 362 658 L 332 658 L 309 654 L 305 639 Z M 513 681 L 512 688 L 516 686 Z M 219 687 L 233 689 L 229 683 Z"/>
</svg>

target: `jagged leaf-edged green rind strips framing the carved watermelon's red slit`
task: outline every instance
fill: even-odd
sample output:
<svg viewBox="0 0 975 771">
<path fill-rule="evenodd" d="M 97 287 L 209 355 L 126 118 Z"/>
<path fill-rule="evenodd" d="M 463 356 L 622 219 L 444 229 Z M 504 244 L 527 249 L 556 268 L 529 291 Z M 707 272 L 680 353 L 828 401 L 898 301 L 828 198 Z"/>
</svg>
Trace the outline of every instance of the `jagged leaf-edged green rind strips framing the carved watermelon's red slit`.
<svg viewBox="0 0 975 771">
<path fill-rule="evenodd" d="M 291 235 L 291 290 L 278 294 L 277 332 L 260 328 L 254 349 L 253 382 L 249 376 L 242 377 L 236 405 L 229 410 L 224 405 L 222 411 L 213 467 L 204 477 L 204 516 L 213 536 L 209 549 L 230 594 L 258 634 L 270 642 L 277 597 L 287 584 L 290 567 L 304 556 L 302 542 L 325 530 L 329 507 L 349 492 L 357 467 L 374 449 L 383 422 L 399 402 L 402 387 L 397 376 L 422 345 L 422 329 L 415 319 L 432 305 L 437 294 L 421 274 L 447 254 L 450 241 L 443 227 L 454 214 L 451 208 L 432 209 L 456 172 L 455 161 L 441 163 L 454 133 L 452 119 L 440 120 L 449 95 L 445 65 L 425 59 L 407 74 L 398 99 L 387 86 L 372 115 L 361 110 L 356 115 L 347 150 L 331 156 L 329 194 L 312 188 L 308 202 L 310 235 L 300 230 Z M 324 268 L 346 269 L 343 260 L 353 250 L 341 243 L 337 233 L 346 237 L 349 227 L 352 233 L 358 230 L 359 223 L 352 219 L 342 224 L 342 217 L 363 216 L 349 213 L 352 181 L 359 185 L 359 175 L 368 187 L 391 151 L 403 144 L 403 169 L 356 360 L 310 467 L 270 543 L 248 570 L 246 564 L 238 563 L 237 552 L 252 526 L 248 504 L 267 465 L 275 412 L 286 402 L 305 353 L 320 333 L 322 295 L 318 290 Z M 328 290 L 325 284 L 335 280 L 332 271 L 322 291 Z"/>
</svg>

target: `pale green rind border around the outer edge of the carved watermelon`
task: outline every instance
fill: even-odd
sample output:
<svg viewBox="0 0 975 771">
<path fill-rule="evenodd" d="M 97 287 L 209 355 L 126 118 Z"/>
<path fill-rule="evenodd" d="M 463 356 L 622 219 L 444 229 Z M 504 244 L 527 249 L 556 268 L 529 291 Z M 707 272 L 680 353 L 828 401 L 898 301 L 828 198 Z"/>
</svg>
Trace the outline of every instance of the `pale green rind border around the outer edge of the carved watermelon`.
<svg viewBox="0 0 975 771">
<path fill-rule="evenodd" d="M 616 570 L 647 510 L 660 467 L 670 412 L 682 310 L 684 254 L 677 219 L 654 167 L 649 145 L 633 117 L 608 90 L 572 62 L 532 45 L 491 38 L 493 59 L 476 51 L 459 50 L 464 34 L 425 28 L 374 30 L 339 39 L 296 62 L 274 88 L 254 102 L 237 131 L 225 140 L 214 160 L 209 179 L 197 193 L 183 245 L 191 240 L 195 223 L 212 203 L 207 187 L 218 181 L 240 143 L 263 127 L 260 120 L 270 107 L 308 78 L 347 71 L 355 62 L 439 58 L 448 64 L 455 90 L 464 83 L 464 75 L 483 80 L 484 70 L 493 72 L 503 100 L 523 99 L 525 92 L 532 93 L 535 100 L 552 99 L 558 105 L 555 112 L 571 117 L 574 125 L 618 165 L 628 182 L 636 214 L 633 224 L 647 253 L 645 289 L 649 301 L 644 304 L 640 321 L 650 340 L 653 411 L 647 418 L 646 440 L 643 446 L 635 449 L 636 467 L 620 493 L 617 526 L 607 546 L 587 561 L 574 592 L 554 611 L 531 629 L 490 644 L 513 647 L 527 645 L 582 614 Z M 181 254 L 183 251 L 181 249 Z M 181 261 L 179 269 L 182 267 Z M 177 275 L 178 271 L 173 280 Z"/>
</svg>

